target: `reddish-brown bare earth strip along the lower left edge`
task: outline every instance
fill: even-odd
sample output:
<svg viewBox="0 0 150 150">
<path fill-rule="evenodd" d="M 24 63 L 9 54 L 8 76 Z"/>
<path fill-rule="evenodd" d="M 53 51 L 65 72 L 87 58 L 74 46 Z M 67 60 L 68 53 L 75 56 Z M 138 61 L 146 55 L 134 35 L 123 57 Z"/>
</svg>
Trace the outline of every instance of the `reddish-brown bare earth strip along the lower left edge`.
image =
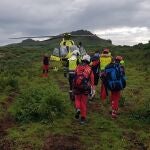
<svg viewBox="0 0 150 150">
<path fill-rule="evenodd" d="M 0 119 L 0 150 L 11 150 L 13 145 L 12 141 L 9 141 L 7 136 L 7 129 L 15 126 L 15 120 L 8 113 L 9 106 L 13 103 L 15 97 L 18 93 L 11 92 L 9 96 L 4 100 L 4 102 L 0 102 L 0 105 L 4 109 L 4 116 Z"/>
</svg>

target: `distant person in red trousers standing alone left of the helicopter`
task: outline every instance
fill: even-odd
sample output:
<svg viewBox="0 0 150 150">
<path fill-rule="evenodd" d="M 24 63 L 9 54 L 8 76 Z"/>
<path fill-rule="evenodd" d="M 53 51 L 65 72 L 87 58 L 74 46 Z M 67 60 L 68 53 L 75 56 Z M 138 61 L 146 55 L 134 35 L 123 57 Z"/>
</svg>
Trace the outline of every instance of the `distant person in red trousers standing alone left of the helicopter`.
<svg viewBox="0 0 150 150">
<path fill-rule="evenodd" d="M 43 77 L 48 77 L 48 70 L 49 70 L 49 56 L 47 53 L 43 56 Z"/>
</svg>

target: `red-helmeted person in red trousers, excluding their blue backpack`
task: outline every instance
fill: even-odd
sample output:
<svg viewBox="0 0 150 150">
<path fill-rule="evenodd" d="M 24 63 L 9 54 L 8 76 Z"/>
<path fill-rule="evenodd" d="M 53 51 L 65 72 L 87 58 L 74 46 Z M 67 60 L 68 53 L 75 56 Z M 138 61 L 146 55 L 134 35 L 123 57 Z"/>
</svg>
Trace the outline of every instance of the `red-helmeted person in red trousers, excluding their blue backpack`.
<svg viewBox="0 0 150 150">
<path fill-rule="evenodd" d="M 121 73 L 123 74 L 123 76 L 125 76 L 123 58 L 121 56 L 116 56 L 114 62 L 110 63 L 107 67 L 109 68 L 109 66 L 113 65 L 114 63 L 120 65 Z M 126 83 L 123 82 L 123 84 L 124 84 L 123 86 L 125 87 Z M 112 107 L 112 113 L 111 113 L 112 119 L 117 118 L 120 96 L 121 96 L 121 90 L 111 90 L 110 101 Z"/>
</svg>

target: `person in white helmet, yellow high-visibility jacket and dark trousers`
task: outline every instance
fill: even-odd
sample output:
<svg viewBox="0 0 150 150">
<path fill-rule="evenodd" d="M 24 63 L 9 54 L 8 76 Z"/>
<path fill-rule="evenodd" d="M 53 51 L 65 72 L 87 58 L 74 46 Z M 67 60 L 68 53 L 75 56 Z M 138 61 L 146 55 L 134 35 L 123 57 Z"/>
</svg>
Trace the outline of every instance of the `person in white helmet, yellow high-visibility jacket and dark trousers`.
<svg viewBox="0 0 150 150">
<path fill-rule="evenodd" d="M 78 50 L 74 50 L 72 52 L 72 56 L 68 59 L 67 62 L 67 67 L 68 67 L 68 74 L 69 74 L 69 86 L 70 86 L 70 99 L 74 100 L 74 95 L 73 95 L 73 91 L 72 91 L 72 84 L 73 84 L 73 79 L 75 76 L 75 69 L 77 67 L 77 65 L 79 64 L 79 55 L 80 52 Z"/>
</svg>

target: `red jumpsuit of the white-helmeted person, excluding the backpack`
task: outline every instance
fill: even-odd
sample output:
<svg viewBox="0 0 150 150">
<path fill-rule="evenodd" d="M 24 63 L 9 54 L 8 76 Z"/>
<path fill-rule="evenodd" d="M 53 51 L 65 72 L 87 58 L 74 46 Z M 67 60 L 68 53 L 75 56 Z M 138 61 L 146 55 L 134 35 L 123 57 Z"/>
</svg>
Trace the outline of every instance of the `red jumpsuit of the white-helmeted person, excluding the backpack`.
<svg viewBox="0 0 150 150">
<path fill-rule="evenodd" d="M 78 67 L 80 67 L 80 65 L 77 66 L 75 72 L 78 71 Z M 87 74 L 87 77 L 89 76 L 89 84 L 91 85 L 92 88 L 94 88 L 93 71 L 91 70 L 91 67 L 88 64 L 86 64 L 84 67 L 85 67 L 84 72 Z M 77 91 L 77 92 L 75 92 L 75 108 L 80 110 L 81 118 L 83 118 L 83 119 L 85 119 L 87 116 L 88 94 L 89 94 L 88 91 L 85 91 L 85 92 Z"/>
</svg>

